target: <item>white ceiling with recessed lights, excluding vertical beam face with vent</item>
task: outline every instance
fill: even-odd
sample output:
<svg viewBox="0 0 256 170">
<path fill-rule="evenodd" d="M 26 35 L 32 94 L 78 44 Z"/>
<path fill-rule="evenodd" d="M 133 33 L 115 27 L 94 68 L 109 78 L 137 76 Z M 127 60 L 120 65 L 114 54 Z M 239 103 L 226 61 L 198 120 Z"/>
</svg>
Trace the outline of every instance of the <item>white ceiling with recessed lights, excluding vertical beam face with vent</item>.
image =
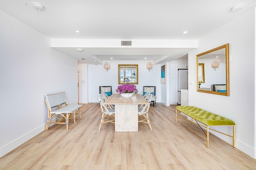
<svg viewBox="0 0 256 170">
<path fill-rule="evenodd" d="M 33 8 L 38 2 L 43 11 Z M 243 4 L 242 10 L 231 8 Z M 1 0 L 0 10 L 51 39 L 196 40 L 256 6 L 256 0 Z M 81 33 L 75 33 L 80 30 Z M 183 31 L 188 33 L 183 34 Z M 194 48 L 54 47 L 78 59 L 168 62 Z M 82 48 L 83 52 L 76 51 Z M 84 58 L 85 60 L 81 60 Z M 144 59 L 147 58 L 147 59 Z M 93 62 L 96 60 L 97 62 Z"/>
</svg>

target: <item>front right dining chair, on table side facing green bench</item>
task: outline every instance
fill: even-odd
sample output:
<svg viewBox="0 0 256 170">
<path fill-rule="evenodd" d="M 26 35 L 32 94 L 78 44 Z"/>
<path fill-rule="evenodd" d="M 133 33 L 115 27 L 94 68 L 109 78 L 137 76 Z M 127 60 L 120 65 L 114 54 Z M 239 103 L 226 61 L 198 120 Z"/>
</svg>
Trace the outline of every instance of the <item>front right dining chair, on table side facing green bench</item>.
<svg viewBox="0 0 256 170">
<path fill-rule="evenodd" d="M 147 123 L 150 127 L 150 130 L 152 130 L 152 127 L 150 125 L 150 118 L 149 118 L 149 115 L 148 115 L 148 111 L 149 111 L 149 107 L 150 107 L 150 103 L 151 103 L 153 95 L 150 94 L 148 96 L 149 96 L 148 97 L 148 104 L 144 104 L 144 106 L 142 106 L 141 109 L 138 109 L 138 116 L 139 116 L 139 118 L 142 117 L 142 119 L 138 118 L 138 122 Z"/>
</svg>

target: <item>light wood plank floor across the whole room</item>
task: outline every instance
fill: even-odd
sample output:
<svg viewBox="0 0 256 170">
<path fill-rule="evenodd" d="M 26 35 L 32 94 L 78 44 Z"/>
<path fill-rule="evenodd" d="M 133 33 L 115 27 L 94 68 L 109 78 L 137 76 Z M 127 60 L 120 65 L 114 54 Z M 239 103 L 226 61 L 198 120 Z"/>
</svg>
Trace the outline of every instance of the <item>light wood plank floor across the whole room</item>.
<svg viewBox="0 0 256 170">
<path fill-rule="evenodd" d="M 175 105 L 150 107 L 152 131 L 115 132 L 105 123 L 98 131 L 98 103 L 82 106 L 76 124 L 53 125 L 0 158 L 1 170 L 252 170 L 256 160 L 201 129 L 175 123 Z M 47 113 L 46 113 L 47 114 Z"/>
</svg>

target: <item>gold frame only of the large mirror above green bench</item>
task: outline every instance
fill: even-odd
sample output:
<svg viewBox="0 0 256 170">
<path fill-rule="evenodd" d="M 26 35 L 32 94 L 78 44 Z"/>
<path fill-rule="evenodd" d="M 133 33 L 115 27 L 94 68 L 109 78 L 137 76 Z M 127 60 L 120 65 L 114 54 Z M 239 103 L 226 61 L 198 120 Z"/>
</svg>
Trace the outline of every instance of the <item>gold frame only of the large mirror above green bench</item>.
<svg viewBox="0 0 256 170">
<path fill-rule="evenodd" d="M 204 92 L 204 93 L 211 93 L 211 94 L 219 94 L 219 95 L 223 95 L 223 96 L 229 96 L 229 44 L 225 44 L 222 45 L 220 47 L 217 47 L 215 49 L 211 49 L 209 51 L 206 51 L 204 53 L 198 54 L 196 55 L 196 80 L 198 82 L 198 57 L 202 56 L 202 55 L 206 55 L 208 53 L 212 53 L 214 51 L 220 50 L 220 49 L 224 49 L 225 48 L 225 52 L 226 52 L 226 93 L 223 92 L 214 92 L 214 91 L 206 91 L 206 90 L 200 90 L 200 88 L 197 85 L 197 91 L 198 92 Z"/>
</svg>

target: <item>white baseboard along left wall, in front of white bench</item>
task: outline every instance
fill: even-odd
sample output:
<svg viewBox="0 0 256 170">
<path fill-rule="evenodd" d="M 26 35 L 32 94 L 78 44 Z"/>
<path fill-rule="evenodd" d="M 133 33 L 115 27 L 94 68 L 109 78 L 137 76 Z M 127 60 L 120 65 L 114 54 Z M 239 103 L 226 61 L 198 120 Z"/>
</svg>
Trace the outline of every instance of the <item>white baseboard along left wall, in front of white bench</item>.
<svg viewBox="0 0 256 170">
<path fill-rule="evenodd" d="M 45 125 L 41 125 L 40 127 L 37 127 L 36 129 L 22 135 L 21 137 L 15 139 L 14 141 L 4 145 L 3 147 L 0 148 L 0 158 L 6 154 L 8 154 L 10 151 L 14 150 L 16 147 L 22 145 L 32 137 L 35 137 L 42 131 L 44 131 Z"/>
</svg>

